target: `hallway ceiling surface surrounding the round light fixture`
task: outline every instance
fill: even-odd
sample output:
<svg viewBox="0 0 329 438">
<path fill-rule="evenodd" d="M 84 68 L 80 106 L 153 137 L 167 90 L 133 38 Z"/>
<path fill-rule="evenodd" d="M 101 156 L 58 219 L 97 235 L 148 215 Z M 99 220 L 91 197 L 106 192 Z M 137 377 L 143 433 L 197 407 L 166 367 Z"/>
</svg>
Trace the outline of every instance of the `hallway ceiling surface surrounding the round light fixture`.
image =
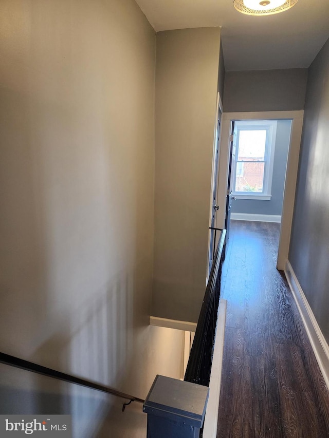
<svg viewBox="0 0 329 438">
<path fill-rule="evenodd" d="M 222 26 L 226 70 L 308 67 L 329 37 L 329 0 L 298 0 L 267 16 L 237 12 L 233 0 L 136 0 L 156 32 Z"/>
</svg>

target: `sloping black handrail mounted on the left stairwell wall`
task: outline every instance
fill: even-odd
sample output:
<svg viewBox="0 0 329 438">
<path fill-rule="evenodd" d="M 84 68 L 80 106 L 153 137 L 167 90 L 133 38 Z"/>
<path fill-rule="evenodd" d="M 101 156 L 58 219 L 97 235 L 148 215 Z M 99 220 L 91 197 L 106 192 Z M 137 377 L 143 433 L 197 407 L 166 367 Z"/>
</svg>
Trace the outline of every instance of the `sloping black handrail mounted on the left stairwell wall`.
<svg viewBox="0 0 329 438">
<path fill-rule="evenodd" d="M 42 374 L 47 377 L 56 378 L 58 380 L 63 380 L 63 382 L 73 383 L 75 385 L 84 386 L 90 389 L 96 389 L 97 391 L 106 392 L 107 394 L 115 395 L 117 397 L 125 398 L 129 400 L 128 403 L 124 403 L 122 406 L 122 412 L 127 405 L 132 402 L 144 403 L 142 398 L 134 397 L 124 392 L 117 391 L 109 386 L 101 385 L 92 380 L 83 379 L 80 377 L 72 376 L 70 374 L 62 373 L 60 371 L 53 370 L 52 368 L 43 367 L 42 365 L 34 364 L 28 360 L 20 359 L 15 356 L 10 356 L 9 354 L 0 353 L 0 363 L 5 365 L 10 365 L 16 368 L 22 368 L 26 371 L 31 371 L 33 373 Z"/>
</svg>

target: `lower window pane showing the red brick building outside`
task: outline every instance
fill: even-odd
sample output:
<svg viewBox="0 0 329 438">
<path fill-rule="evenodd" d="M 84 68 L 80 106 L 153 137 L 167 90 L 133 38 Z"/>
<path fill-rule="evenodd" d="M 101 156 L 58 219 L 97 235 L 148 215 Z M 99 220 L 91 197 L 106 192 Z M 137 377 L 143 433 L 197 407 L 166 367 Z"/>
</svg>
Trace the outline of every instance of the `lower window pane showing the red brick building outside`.
<svg viewBox="0 0 329 438">
<path fill-rule="evenodd" d="M 234 192 L 262 193 L 264 165 L 264 162 L 237 162 Z"/>
</svg>

